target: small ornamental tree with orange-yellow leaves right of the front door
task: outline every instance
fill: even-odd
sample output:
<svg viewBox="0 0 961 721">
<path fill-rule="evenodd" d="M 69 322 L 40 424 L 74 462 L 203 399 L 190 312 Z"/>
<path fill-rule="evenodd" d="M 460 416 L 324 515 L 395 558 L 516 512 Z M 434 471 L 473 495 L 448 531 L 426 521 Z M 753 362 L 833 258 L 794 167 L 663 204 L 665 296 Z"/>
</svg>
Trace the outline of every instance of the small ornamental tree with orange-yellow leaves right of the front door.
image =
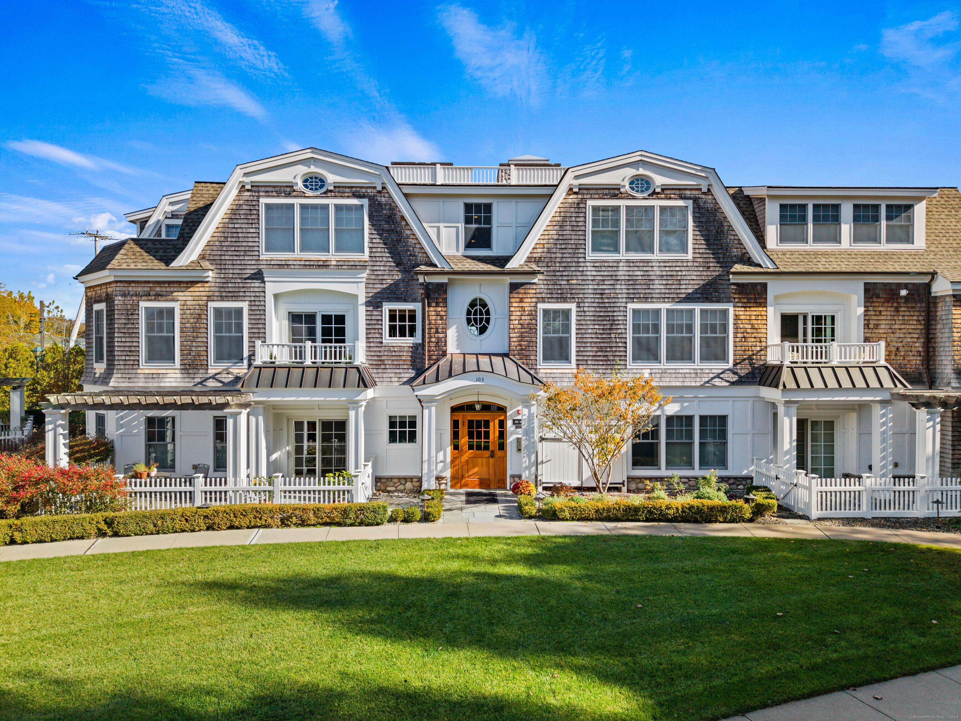
<svg viewBox="0 0 961 721">
<path fill-rule="evenodd" d="M 671 402 L 650 378 L 615 373 L 606 379 L 583 368 L 574 385 L 548 382 L 531 399 L 537 401 L 540 428 L 578 449 L 602 493 L 630 439 L 650 430 L 653 413 Z"/>
</svg>

